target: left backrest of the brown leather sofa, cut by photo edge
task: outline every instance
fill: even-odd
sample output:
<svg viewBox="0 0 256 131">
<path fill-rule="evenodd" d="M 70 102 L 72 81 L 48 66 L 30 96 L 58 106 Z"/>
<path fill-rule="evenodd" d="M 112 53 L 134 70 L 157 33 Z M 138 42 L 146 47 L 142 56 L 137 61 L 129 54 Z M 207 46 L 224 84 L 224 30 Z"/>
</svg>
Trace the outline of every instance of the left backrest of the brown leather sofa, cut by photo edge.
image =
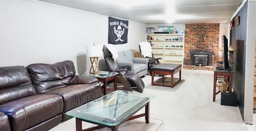
<svg viewBox="0 0 256 131">
<path fill-rule="evenodd" d="M 35 94 L 26 67 L 0 67 L 0 104 Z"/>
</svg>

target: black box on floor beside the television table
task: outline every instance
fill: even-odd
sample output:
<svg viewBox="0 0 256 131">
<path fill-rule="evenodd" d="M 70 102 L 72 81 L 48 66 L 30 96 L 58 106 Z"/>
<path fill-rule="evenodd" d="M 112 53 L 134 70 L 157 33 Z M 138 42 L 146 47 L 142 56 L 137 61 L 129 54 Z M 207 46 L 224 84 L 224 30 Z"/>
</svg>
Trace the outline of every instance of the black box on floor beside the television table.
<svg viewBox="0 0 256 131">
<path fill-rule="evenodd" d="M 238 106 L 236 93 L 221 92 L 220 105 Z"/>
</svg>

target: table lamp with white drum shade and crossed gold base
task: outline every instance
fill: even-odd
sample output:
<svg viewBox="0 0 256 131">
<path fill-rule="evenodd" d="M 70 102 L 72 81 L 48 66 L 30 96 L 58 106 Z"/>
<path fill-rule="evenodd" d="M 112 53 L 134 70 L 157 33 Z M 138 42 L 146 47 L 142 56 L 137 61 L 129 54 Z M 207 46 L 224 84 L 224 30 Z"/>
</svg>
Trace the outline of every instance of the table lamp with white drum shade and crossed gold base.
<svg viewBox="0 0 256 131">
<path fill-rule="evenodd" d="M 86 45 L 86 55 L 90 57 L 90 73 L 100 73 L 98 67 L 98 56 L 102 56 L 102 45 Z M 94 65 L 95 64 L 95 65 Z"/>
</svg>

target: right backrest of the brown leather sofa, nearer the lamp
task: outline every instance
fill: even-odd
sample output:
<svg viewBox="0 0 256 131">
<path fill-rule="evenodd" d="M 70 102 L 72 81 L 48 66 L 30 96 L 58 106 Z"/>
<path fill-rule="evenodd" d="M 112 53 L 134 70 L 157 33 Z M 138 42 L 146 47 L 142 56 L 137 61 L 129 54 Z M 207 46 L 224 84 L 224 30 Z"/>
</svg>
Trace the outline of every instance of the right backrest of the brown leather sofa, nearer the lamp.
<svg viewBox="0 0 256 131">
<path fill-rule="evenodd" d="M 70 85 L 76 74 L 74 63 L 69 60 L 55 64 L 30 64 L 26 68 L 38 94 Z"/>
</svg>

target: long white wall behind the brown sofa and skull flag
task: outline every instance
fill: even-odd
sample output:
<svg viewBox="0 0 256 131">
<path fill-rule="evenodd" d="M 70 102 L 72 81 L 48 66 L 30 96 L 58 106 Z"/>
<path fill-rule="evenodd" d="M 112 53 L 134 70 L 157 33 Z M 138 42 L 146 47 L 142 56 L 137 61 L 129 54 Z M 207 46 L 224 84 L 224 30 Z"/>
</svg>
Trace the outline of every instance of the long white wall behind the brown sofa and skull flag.
<svg viewBox="0 0 256 131">
<path fill-rule="evenodd" d="M 138 50 L 145 34 L 146 24 L 129 21 L 128 43 L 115 46 Z M 93 43 L 108 43 L 108 16 L 37 0 L 0 0 L 0 67 L 72 60 L 81 74 L 90 70 L 86 44 Z"/>
</svg>

